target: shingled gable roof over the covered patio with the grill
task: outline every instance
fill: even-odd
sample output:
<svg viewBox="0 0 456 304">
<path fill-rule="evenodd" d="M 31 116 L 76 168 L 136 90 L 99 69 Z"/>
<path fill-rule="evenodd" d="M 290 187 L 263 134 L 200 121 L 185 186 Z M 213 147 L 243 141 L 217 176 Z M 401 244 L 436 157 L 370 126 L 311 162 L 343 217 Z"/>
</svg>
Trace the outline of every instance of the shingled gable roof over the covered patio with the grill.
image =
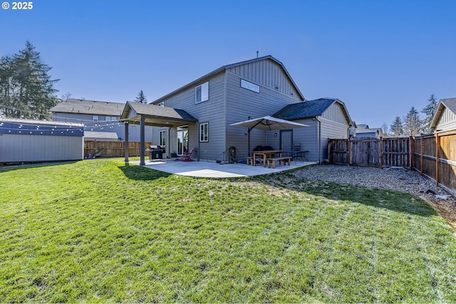
<svg viewBox="0 0 456 304">
<path fill-rule="evenodd" d="M 197 121 L 195 117 L 185 110 L 130 101 L 125 105 L 120 120 L 130 123 L 139 122 L 141 116 L 145 117 L 146 125 L 163 127 Z"/>
</svg>

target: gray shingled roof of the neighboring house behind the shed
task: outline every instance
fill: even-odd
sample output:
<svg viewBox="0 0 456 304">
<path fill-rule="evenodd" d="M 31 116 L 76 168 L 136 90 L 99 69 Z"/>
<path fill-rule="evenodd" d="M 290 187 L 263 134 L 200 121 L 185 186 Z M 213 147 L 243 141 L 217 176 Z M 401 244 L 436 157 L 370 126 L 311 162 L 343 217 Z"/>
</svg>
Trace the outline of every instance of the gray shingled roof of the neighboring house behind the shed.
<svg viewBox="0 0 456 304">
<path fill-rule="evenodd" d="M 91 115 L 120 116 L 125 103 L 108 103 L 105 101 L 67 99 L 51 108 L 51 112 L 78 113 Z"/>
</svg>

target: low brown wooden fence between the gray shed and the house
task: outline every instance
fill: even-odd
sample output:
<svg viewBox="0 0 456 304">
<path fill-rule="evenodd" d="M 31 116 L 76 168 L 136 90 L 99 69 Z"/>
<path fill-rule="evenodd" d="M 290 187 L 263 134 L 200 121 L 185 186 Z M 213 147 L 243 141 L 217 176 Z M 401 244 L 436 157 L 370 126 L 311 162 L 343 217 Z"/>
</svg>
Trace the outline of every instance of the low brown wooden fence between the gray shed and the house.
<svg viewBox="0 0 456 304">
<path fill-rule="evenodd" d="M 145 147 L 152 142 L 145 142 Z M 125 157 L 125 142 L 84 141 L 84 155 L 100 152 L 100 157 Z M 128 142 L 128 155 L 140 156 L 140 142 Z"/>
</svg>

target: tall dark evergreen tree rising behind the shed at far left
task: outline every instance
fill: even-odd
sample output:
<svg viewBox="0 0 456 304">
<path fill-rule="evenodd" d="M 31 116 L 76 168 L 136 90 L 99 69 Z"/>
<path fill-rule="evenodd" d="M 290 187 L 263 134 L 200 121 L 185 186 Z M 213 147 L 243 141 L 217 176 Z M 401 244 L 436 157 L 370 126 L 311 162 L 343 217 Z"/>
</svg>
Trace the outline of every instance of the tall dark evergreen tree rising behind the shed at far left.
<svg viewBox="0 0 456 304">
<path fill-rule="evenodd" d="M 41 63 L 40 53 L 30 42 L 13 58 L 0 61 L 0 115 L 14 118 L 49 118 L 49 109 L 58 103 L 48 75 L 51 67 Z"/>
</svg>

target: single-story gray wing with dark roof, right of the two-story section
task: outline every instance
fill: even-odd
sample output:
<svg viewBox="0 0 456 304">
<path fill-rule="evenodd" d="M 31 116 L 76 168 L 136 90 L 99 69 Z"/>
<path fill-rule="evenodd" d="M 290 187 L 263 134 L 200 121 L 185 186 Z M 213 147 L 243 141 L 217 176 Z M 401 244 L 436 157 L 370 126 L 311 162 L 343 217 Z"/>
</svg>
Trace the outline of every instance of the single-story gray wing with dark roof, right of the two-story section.
<svg viewBox="0 0 456 304">
<path fill-rule="evenodd" d="M 299 122 L 309 127 L 282 130 L 279 147 L 283 148 L 284 132 L 291 132 L 293 142 L 301 144 L 301 150 L 308 150 L 306 158 L 322 162 L 328 158 L 328 138 L 348 138 L 352 125 L 345 104 L 337 98 L 319 98 L 305 103 L 287 105 L 272 116 Z M 268 142 L 274 142 L 276 132 L 269 132 Z M 286 149 L 284 149 L 286 150 Z"/>
</svg>

